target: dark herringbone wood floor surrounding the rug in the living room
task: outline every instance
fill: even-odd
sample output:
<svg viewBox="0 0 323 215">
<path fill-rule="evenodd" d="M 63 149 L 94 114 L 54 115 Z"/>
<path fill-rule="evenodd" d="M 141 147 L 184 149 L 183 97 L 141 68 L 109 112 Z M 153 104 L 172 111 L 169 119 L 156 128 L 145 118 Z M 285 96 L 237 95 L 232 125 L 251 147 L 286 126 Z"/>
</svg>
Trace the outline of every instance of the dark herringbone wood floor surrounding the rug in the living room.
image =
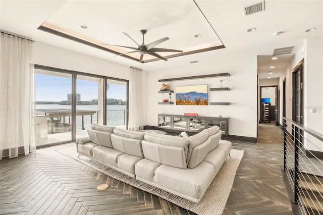
<svg viewBox="0 0 323 215">
<path fill-rule="evenodd" d="M 194 214 L 48 147 L 0 161 L 0 214 Z M 281 143 L 234 141 L 244 157 L 224 214 L 292 214 Z M 99 191 L 99 184 L 107 190 Z"/>
</svg>

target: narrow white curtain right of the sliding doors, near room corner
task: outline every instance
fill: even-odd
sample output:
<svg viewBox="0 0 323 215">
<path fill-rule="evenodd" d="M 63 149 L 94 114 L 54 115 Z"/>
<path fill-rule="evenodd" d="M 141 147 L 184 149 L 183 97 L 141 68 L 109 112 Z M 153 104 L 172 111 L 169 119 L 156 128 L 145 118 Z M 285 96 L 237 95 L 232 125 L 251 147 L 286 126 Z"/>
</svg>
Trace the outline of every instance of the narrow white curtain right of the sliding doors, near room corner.
<svg viewBox="0 0 323 215">
<path fill-rule="evenodd" d="M 130 67 L 128 130 L 143 129 L 142 71 Z"/>
</svg>

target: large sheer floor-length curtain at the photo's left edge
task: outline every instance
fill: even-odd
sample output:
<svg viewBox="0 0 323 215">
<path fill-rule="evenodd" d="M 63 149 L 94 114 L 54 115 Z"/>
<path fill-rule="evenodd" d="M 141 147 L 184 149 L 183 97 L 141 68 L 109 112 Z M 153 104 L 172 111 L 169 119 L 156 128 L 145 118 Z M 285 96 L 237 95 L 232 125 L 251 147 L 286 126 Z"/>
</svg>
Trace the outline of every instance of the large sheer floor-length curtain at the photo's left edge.
<svg viewBox="0 0 323 215">
<path fill-rule="evenodd" d="M 0 32 L 0 159 L 35 150 L 33 43 Z"/>
</svg>

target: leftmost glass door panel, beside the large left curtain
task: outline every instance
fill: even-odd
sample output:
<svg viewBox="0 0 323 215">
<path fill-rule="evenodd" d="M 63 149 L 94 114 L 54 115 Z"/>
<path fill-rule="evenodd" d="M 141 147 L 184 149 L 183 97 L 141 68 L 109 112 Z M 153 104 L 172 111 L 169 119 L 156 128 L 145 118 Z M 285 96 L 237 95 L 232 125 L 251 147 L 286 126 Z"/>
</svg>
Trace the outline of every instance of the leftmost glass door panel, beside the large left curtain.
<svg viewBox="0 0 323 215">
<path fill-rule="evenodd" d="M 35 69 L 36 145 L 72 141 L 72 74 Z"/>
</svg>

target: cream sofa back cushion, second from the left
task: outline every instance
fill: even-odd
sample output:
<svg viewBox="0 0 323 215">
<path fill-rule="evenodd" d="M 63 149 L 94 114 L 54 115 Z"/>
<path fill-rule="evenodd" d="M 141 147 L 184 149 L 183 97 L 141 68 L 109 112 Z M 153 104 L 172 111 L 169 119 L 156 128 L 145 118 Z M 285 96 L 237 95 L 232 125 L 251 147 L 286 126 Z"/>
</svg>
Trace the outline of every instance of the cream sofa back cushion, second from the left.
<svg viewBox="0 0 323 215">
<path fill-rule="evenodd" d="M 114 149 L 134 156 L 143 157 L 141 147 L 143 133 L 122 128 L 115 128 L 113 132 L 111 134 L 111 142 Z"/>
</svg>

